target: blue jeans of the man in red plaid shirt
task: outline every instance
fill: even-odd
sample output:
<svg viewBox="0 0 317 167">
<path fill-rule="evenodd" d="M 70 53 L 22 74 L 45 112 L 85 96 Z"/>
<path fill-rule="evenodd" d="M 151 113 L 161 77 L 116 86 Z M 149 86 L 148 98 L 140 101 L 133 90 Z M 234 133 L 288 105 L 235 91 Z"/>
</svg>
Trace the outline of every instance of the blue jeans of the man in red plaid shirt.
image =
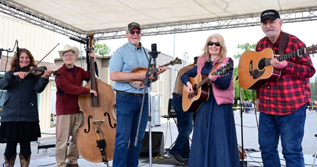
<svg viewBox="0 0 317 167">
<path fill-rule="evenodd" d="M 282 154 L 287 167 L 305 167 L 301 142 L 304 137 L 307 104 L 288 115 L 260 112 L 259 144 L 265 167 L 280 167 L 277 150 L 281 136 Z"/>
</svg>

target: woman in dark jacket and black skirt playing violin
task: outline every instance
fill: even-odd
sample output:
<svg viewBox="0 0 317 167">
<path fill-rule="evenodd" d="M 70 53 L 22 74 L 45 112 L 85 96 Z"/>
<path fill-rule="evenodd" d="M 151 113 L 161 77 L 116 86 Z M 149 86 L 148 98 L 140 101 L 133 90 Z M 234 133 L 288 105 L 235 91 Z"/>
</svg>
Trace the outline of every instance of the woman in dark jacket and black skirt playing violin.
<svg viewBox="0 0 317 167">
<path fill-rule="evenodd" d="M 0 81 L 0 88 L 7 90 L 0 121 L 0 143 L 7 143 L 4 160 L 5 165 L 9 167 L 14 166 L 18 143 L 21 166 L 29 166 L 30 142 L 41 137 L 36 93 L 41 93 L 45 89 L 52 74 L 52 71 L 46 70 L 43 77 L 26 77 L 27 73 L 23 70 L 29 65 L 34 65 L 35 60 L 27 49 L 20 48 L 19 51 L 20 63 L 17 63 L 15 53 L 10 71 L 6 72 Z"/>
</svg>

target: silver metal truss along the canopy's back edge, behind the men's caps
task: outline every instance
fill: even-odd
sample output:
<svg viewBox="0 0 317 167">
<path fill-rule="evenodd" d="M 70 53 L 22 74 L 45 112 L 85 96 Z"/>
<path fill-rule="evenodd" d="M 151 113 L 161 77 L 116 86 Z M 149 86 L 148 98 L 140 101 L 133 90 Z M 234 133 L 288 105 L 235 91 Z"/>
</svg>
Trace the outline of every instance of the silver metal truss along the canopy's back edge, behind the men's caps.
<svg viewBox="0 0 317 167">
<path fill-rule="evenodd" d="M 317 20 L 317 6 L 279 11 L 283 23 Z M 239 28 L 260 25 L 260 13 L 235 15 L 221 18 L 169 22 L 164 24 L 142 25 L 142 35 L 176 34 L 195 31 Z M 97 30 L 96 39 L 107 40 L 125 38 L 126 27 L 117 29 Z"/>
</svg>

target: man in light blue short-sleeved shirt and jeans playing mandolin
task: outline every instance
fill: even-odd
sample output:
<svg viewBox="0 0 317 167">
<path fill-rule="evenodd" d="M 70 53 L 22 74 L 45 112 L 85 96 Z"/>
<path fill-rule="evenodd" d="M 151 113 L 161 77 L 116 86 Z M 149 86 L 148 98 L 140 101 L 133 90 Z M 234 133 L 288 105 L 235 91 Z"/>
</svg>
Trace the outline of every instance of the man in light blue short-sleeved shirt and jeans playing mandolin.
<svg viewBox="0 0 317 167">
<path fill-rule="evenodd" d="M 110 59 L 110 79 L 115 81 L 113 90 L 116 95 L 117 130 L 113 155 L 113 167 L 138 166 L 139 154 L 144 137 L 147 116 L 148 96 L 145 95 L 142 111 L 138 144 L 135 147 L 135 137 L 139 123 L 143 89 L 137 89 L 129 81 L 144 80 L 145 72 L 130 73 L 134 67 L 147 67 L 150 52 L 142 47 L 141 28 L 136 22 L 128 24 L 126 28 L 128 43 L 118 48 Z M 166 67 L 158 67 L 158 71 L 149 76 L 152 82 L 159 78 L 159 74 L 166 71 Z M 149 92 L 146 92 L 146 94 Z M 130 142 L 129 146 L 128 143 Z M 128 148 L 128 149 L 127 149 Z"/>
</svg>

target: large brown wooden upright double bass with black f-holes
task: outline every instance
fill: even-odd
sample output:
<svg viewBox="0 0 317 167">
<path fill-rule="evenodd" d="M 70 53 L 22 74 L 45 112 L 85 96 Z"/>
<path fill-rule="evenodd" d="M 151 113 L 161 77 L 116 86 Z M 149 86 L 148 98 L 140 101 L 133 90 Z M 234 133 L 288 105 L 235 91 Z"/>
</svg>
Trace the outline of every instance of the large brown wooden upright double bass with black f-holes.
<svg viewBox="0 0 317 167">
<path fill-rule="evenodd" d="M 94 50 L 94 34 L 89 33 L 89 52 Z M 117 120 L 115 94 L 109 84 L 95 76 L 94 58 L 90 57 L 90 81 L 86 88 L 97 91 L 80 95 L 78 104 L 84 113 L 84 125 L 79 128 L 77 146 L 81 156 L 89 162 L 105 162 L 113 159 Z"/>
</svg>

